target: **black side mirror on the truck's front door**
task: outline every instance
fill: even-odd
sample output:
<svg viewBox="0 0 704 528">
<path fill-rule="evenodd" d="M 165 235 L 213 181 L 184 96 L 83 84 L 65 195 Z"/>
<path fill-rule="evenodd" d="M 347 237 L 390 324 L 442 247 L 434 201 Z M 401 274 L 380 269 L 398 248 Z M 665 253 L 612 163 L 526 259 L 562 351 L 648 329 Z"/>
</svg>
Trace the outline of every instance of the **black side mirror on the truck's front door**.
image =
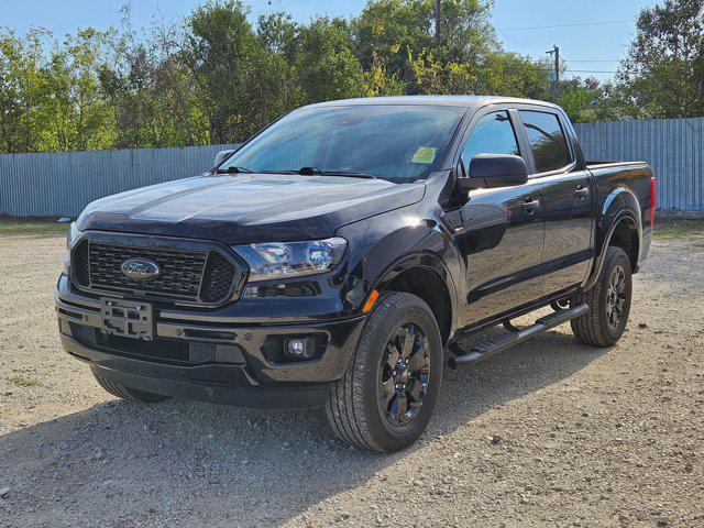
<svg viewBox="0 0 704 528">
<path fill-rule="evenodd" d="M 520 156 L 479 154 L 470 162 L 469 177 L 458 182 L 462 191 L 513 187 L 528 182 L 528 168 Z"/>
</svg>

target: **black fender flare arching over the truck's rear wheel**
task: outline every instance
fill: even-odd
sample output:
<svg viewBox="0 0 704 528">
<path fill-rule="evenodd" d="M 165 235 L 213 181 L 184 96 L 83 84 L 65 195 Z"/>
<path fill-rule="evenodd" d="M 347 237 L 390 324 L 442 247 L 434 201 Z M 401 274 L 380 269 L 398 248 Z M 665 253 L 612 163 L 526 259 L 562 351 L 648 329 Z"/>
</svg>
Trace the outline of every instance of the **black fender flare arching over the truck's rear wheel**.
<svg viewBox="0 0 704 528">
<path fill-rule="evenodd" d="M 636 263 L 634 271 L 638 266 L 638 257 L 640 254 L 640 246 L 642 245 L 642 226 L 641 219 L 642 212 L 640 202 L 634 193 L 626 187 L 618 187 L 614 189 L 612 194 L 604 200 L 604 206 L 598 216 L 598 221 L 595 228 L 595 258 L 587 275 L 586 280 L 582 285 L 584 292 L 591 289 L 602 273 L 604 266 L 604 260 L 606 258 L 606 249 L 608 248 L 616 228 L 624 222 L 632 223 L 638 237 L 636 240 Z"/>
</svg>

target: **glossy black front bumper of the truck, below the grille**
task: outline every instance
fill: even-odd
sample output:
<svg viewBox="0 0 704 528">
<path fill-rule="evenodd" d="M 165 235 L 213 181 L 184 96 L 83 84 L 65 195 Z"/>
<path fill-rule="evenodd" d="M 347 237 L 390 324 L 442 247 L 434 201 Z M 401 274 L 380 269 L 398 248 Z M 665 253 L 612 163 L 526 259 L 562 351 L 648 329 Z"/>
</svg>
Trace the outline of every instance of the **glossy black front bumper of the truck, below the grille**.
<svg viewBox="0 0 704 528">
<path fill-rule="evenodd" d="M 63 275 L 54 296 L 62 344 L 108 380 L 166 396 L 244 407 L 312 408 L 324 404 L 342 377 L 364 317 L 321 322 L 239 324 L 212 312 L 179 318 L 154 308 L 154 340 L 100 332 L 100 299 L 72 287 Z M 284 358 L 292 337 L 314 337 L 309 360 Z M 195 351 L 195 353 L 194 353 Z"/>
</svg>

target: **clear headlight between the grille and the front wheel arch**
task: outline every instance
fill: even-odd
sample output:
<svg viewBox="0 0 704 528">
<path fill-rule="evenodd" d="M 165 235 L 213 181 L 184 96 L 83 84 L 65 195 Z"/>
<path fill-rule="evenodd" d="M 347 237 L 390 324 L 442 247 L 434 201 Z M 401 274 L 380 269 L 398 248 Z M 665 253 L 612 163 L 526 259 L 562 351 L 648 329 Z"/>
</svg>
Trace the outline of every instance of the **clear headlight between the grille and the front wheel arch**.
<svg viewBox="0 0 704 528">
<path fill-rule="evenodd" d="M 346 240 L 334 237 L 311 242 L 237 245 L 234 251 L 250 265 L 250 282 L 257 282 L 334 270 L 346 245 Z"/>
</svg>

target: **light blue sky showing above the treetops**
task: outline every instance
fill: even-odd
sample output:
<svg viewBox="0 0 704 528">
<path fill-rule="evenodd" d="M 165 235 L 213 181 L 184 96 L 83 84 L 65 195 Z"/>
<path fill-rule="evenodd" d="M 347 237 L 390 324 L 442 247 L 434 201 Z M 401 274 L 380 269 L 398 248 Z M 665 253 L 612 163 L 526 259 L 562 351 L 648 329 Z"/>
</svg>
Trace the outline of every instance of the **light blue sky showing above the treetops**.
<svg viewBox="0 0 704 528">
<path fill-rule="evenodd" d="M 0 0 L 0 26 L 24 33 L 33 26 L 57 35 L 78 28 L 100 30 L 117 25 L 119 10 L 128 0 Z M 134 28 L 148 28 L 156 16 L 173 22 L 186 16 L 205 0 L 131 0 Z M 298 21 L 314 14 L 351 15 L 365 0 L 245 0 L 252 18 L 267 10 L 284 10 Z M 546 56 L 553 45 L 572 75 L 613 77 L 635 35 L 635 22 L 653 0 L 495 0 L 493 22 L 504 47 L 512 52 Z M 587 25 L 571 25 L 587 24 Z M 568 25 L 568 26 L 564 26 Z M 562 28 L 560 28 L 562 26 Z"/>
</svg>

